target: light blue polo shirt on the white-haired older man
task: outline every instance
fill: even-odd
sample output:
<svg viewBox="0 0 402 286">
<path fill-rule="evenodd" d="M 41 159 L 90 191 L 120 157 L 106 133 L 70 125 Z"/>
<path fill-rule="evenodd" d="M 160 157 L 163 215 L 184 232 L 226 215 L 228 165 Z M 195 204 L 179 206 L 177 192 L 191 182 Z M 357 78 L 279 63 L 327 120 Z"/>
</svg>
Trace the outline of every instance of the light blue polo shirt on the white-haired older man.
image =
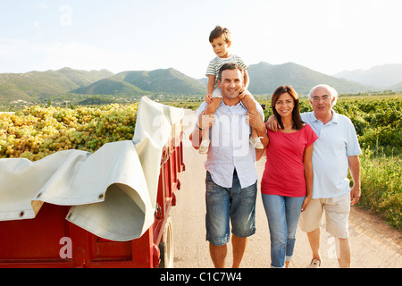
<svg viewBox="0 0 402 286">
<path fill-rule="evenodd" d="M 335 198 L 350 191 L 348 156 L 362 154 L 356 130 L 348 117 L 332 110 L 332 120 L 323 124 L 314 112 L 301 114 L 318 139 L 313 151 L 313 198 Z"/>
</svg>

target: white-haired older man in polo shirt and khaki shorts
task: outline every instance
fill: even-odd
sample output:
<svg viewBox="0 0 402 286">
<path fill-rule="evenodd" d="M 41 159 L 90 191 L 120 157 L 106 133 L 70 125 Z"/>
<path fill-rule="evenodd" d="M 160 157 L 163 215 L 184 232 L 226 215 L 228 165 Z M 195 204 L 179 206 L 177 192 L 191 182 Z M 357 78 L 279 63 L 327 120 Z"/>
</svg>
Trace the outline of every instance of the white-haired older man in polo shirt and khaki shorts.
<svg viewBox="0 0 402 286">
<path fill-rule="evenodd" d="M 350 205 L 360 198 L 361 150 L 356 130 L 348 117 L 337 114 L 332 106 L 336 104 L 338 93 L 328 85 L 318 85 L 309 94 L 313 112 L 301 114 L 318 136 L 313 151 L 313 198 L 306 211 L 300 216 L 300 227 L 307 232 L 313 251 L 313 259 L 308 268 L 321 265 L 320 234 L 322 214 L 325 211 L 326 230 L 336 241 L 339 267 L 350 267 L 350 242 L 348 217 Z M 277 128 L 275 122 L 268 122 L 268 128 Z M 350 189 L 348 170 L 353 180 Z"/>
</svg>

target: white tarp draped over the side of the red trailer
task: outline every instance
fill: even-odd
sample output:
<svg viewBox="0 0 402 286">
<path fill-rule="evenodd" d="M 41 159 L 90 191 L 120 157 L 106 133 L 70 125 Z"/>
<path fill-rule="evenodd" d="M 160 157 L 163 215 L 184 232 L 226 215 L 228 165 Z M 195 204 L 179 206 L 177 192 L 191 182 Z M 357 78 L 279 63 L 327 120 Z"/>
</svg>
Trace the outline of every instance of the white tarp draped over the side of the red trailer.
<svg viewBox="0 0 402 286">
<path fill-rule="evenodd" d="M 37 162 L 0 159 L 0 221 L 32 219 L 46 202 L 72 206 L 66 219 L 104 239 L 140 237 L 154 222 L 163 146 L 183 116 L 182 109 L 143 97 L 132 141 Z"/>
</svg>

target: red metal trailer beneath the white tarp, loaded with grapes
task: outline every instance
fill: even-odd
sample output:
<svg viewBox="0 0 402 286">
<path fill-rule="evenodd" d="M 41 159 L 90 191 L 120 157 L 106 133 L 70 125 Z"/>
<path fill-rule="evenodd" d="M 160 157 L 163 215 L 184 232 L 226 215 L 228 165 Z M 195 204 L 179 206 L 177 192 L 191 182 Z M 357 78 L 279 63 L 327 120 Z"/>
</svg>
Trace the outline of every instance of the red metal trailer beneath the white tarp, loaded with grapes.
<svg viewBox="0 0 402 286">
<path fill-rule="evenodd" d="M 169 212 L 185 170 L 182 125 L 173 126 L 172 134 L 163 147 L 154 223 L 140 238 L 102 239 L 65 219 L 71 206 L 44 203 L 33 219 L 0 222 L 0 268 L 172 267 Z"/>
</svg>

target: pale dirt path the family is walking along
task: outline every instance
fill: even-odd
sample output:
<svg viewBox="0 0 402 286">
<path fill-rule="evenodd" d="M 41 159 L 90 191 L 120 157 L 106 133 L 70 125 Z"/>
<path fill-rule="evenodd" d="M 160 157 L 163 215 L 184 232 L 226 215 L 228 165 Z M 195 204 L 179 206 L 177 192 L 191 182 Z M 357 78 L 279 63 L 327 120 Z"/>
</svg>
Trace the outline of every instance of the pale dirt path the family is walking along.
<svg viewBox="0 0 402 286">
<path fill-rule="evenodd" d="M 188 120 L 190 121 L 190 120 Z M 188 124 L 189 125 L 189 124 Z M 185 130 L 186 136 L 189 134 Z M 184 143 L 186 171 L 180 176 L 181 189 L 177 193 L 177 206 L 172 208 L 174 235 L 174 266 L 180 268 L 214 267 L 209 257 L 208 242 L 205 241 L 205 168 L 206 156 L 190 147 L 188 139 Z M 265 158 L 256 163 L 261 181 Z M 258 187 L 259 190 L 259 187 Z M 242 267 L 269 267 L 270 241 L 268 224 L 261 195 L 258 193 L 256 205 L 256 233 L 248 240 Z M 324 227 L 324 226 L 323 226 Z M 352 207 L 349 218 L 350 242 L 352 247 L 352 267 L 357 268 L 401 268 L 402 234 L 394 231 L 373 214 L 358 207 Z M 338 267 L 333 238 L 322 229 L 322 268 Z M 297 241 L 292 268 L 305 268 L 310 263 L 311 250 L 306 233 L 297 229 Z M 226 266 L 231 265 L 231 246 Z"/>
</svg>

